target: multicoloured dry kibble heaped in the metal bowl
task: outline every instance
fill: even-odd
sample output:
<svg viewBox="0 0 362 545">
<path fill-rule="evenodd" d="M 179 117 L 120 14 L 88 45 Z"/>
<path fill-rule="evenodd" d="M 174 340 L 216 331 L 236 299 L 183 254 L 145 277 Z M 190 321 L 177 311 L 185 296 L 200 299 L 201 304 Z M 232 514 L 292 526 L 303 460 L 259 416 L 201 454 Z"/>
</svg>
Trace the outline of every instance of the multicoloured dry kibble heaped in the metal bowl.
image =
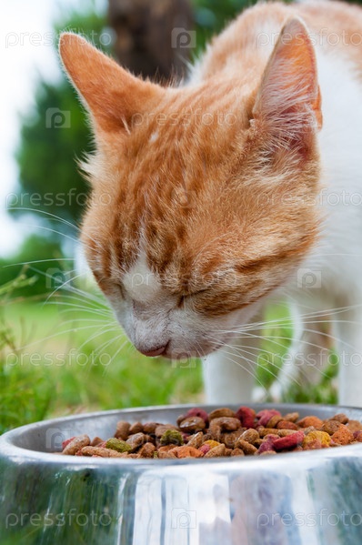
<svg viewBox="0 0 362 545">
<path fill-rule="evenodd" d="M 362 424 L 345 414 L 282 415 L 276 409 L 189 409 L 176 425 L 119 420 L 113 438 L 80 435 L 63 442 L 62 454 L 92 458 L 219 458 L 326 449 L 362 442 Z"/>
</svg>

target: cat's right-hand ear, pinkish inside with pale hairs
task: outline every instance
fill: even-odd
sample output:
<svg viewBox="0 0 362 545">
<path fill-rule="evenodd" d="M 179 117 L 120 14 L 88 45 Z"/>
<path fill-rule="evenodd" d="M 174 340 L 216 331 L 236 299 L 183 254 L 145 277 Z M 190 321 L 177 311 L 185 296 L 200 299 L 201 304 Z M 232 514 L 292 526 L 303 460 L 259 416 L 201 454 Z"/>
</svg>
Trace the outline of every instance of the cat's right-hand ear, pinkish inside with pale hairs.
<svg viewBox="0 0 362 545">
<path fill-rule="evenodd" d="M 298 136 L 322 126 L 314 47 L 304 23 L 293 18 L 283 27 L 256 93 L 253 116 L 277 138 Z"/>
</svg>

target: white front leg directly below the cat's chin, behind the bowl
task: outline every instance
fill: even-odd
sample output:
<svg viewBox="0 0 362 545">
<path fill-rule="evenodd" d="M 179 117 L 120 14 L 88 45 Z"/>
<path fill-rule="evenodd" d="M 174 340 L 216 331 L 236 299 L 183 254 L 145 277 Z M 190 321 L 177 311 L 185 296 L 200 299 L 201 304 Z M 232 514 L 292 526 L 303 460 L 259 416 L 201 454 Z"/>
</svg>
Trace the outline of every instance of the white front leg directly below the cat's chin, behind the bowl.
<svg viewBox="0 0 362 545">
<path fill-rule="evenodd" d="M 204 361 L 206 402 L 226 405 L 248 403 L 255 385 L 260 330 L 233 339 Z"/>
</svg>

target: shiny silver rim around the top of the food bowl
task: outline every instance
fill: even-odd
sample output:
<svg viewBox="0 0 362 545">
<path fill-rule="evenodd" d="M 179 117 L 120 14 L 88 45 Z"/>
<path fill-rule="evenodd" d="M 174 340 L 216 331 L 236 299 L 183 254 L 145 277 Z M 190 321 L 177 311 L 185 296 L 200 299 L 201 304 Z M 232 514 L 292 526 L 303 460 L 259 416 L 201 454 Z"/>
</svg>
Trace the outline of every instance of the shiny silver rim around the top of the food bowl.
<svg viewBox="0 0 362 545">
<path fill-rule="evenodd" d="M 247 403 L 245 405 L 239 405 L 235 403 L 229 403 L 225 404 L 223 407 L 235 407 L 240 406 L 246 406 L 250 408 L 256 408 L 256 409 L 283 409 L 283 407 L 286 408 L 293 408 L 293 409 L 310 409 L 310 411 L 313 413 L 314 409 L 321 410 L 321 409 L 337 409 L 337 412 L 346 412 L 347 414 L 352 414 L 354 411 L 357 411 L 359 413 L 359 420 L 362 421 L 362 408 L 352 407 L 352 406 L 338 406 L 338 405 L 328 405 L 328 404 L 310 404 L 310 403 Z M 133 408 L 127 408 L 127 409 L 110 409 L 110 410 L 102 410 L 102 411 L 93 411 L 93 412 L 86 412 L 86 413 L 78 413 L 74 415 L 68 415 L 66 417 L 57 417 L 55 419 L 45 419 L 38 422 L 33 422 L 31 424 L 25 424 L 24 426 L 20 426 L 15 429 L 10 429 L 8 431 L 5 431 L 3 435 L 0 436 L 0 459 L 12 459 L 15 462 L 24 463 L 25 460 L 30 463 L 46 463 L 47 465 L 64 465 L 67 467 L 75 466 L 75 467 L 86 467 L 86 468 L 93 468 L 93 467 L 101 467 L 102 465 L 109 465 L 112 466 L 116 465 L 123 469 L 126 467 L 133 467 L 135 469 L 156 469 L 159 467 L 159 464 L 162 465 L 162 467 L 165 466 L 178 466 L 178 465 L 190 465 L 195 464 L 198 466 L 199 464 L 204 464 L 206 460 L 205 459 L 195 459 L 195 458 L 187 458 L 187 459 L 112 459 L 112 458 L 92 458 L 92 457 L 80 457 L 80 456 L 65 456 L 59 453 L 53 453 L 53 452 L 44 452 L 39 450 L 33 450 L 33 449 L 25 449 L 24 447 L 19 447 L 16 445 L 16 439 L 21 439 L 21 437 L 31 431 L 31 430 L 39 430 L 39 429 L 47 429 L 48 427 L 59 425 L 60 423 L 64 424 L 65 422 L 72 422 L 73 420 L 78 419 L 96 419 L 96 418 L 105 418 L 105 417 L 112 417 L 112 416 L 122 416 L 127 414 L 132 414 L 136 411 L 161 411 L 161 410 L 184 410 L 184 409 L 193 409 L 193 408 L 199 408 L 199 409 L 205 409 L 206 411 L 210 411 L 216 408 L 220 408 L 220 404 L 196 404 L 196 403 L 187 403 L 187 404 L 176 404 L 176 405 L 151 405 L 147 407 L 133 407 Z M 290 410 L 288 411 L 290 412 Z M 337 414 L 336 412 L 336 414 Z M 182 413 L 180 413 L 182 414 Z M 357 416 L 357 415 L 356 415 Z M 351 417 L 352 419 L 352 417 Z M 306 461 L 309 459 L 310 461 L 314 460 L 320 460 L 320 459 L 334 459 L 334 458 L 360 458 L 362 457 L 362 443 L 359 444 L 353 444 L 353 445 L 342 445 L 341 447 L 333 448 L 333 449 L 315 449 L 315 450 L 306 450 L 306 451 L 298 451 L 298 452 L 283 452 L 280 453 L 282 456 L 246 456 L 246 457 L 233 457 L 233 459 L 230 458 L 211 458 L 207 459 L 207 464 L 217 464 L 217 465 L 225 465 L 227 467 L 234 467 L 236 463 L 243 463 L 243 464 L 263 464 L 267 463 L 270 464 L 276 464 L 280 465 L 280 460 L 285 460 L 287 465 L 288 463 L 291 463 L 293 459 L 299 459 L 302 461 Z M 296 458 L 297 457 L 297 458 Z"/>
</svg>

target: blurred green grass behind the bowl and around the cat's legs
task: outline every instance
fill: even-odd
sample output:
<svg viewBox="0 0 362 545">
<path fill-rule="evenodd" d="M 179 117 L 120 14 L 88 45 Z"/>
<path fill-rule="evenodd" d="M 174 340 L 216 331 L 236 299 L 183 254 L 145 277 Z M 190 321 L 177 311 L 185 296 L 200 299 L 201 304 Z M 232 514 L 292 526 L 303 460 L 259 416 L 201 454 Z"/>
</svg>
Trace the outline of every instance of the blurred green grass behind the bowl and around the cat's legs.
<svg viewBox="0 0 362 545">
<path fill-rule="evenodd" d="M 142 357 L 96 299 L 16 302 L 3 290 L 0 300 L 0 432 L 79 411 L 203 400 L 199 362 Z M 265 318 L 256 381 L 267 390 L 292 328 L 285 308 L 269 308 Z M 283 400 L 336 402 L 336 373 L 332 362 L 317 384 L 298 381 Z"/>
</svg>

